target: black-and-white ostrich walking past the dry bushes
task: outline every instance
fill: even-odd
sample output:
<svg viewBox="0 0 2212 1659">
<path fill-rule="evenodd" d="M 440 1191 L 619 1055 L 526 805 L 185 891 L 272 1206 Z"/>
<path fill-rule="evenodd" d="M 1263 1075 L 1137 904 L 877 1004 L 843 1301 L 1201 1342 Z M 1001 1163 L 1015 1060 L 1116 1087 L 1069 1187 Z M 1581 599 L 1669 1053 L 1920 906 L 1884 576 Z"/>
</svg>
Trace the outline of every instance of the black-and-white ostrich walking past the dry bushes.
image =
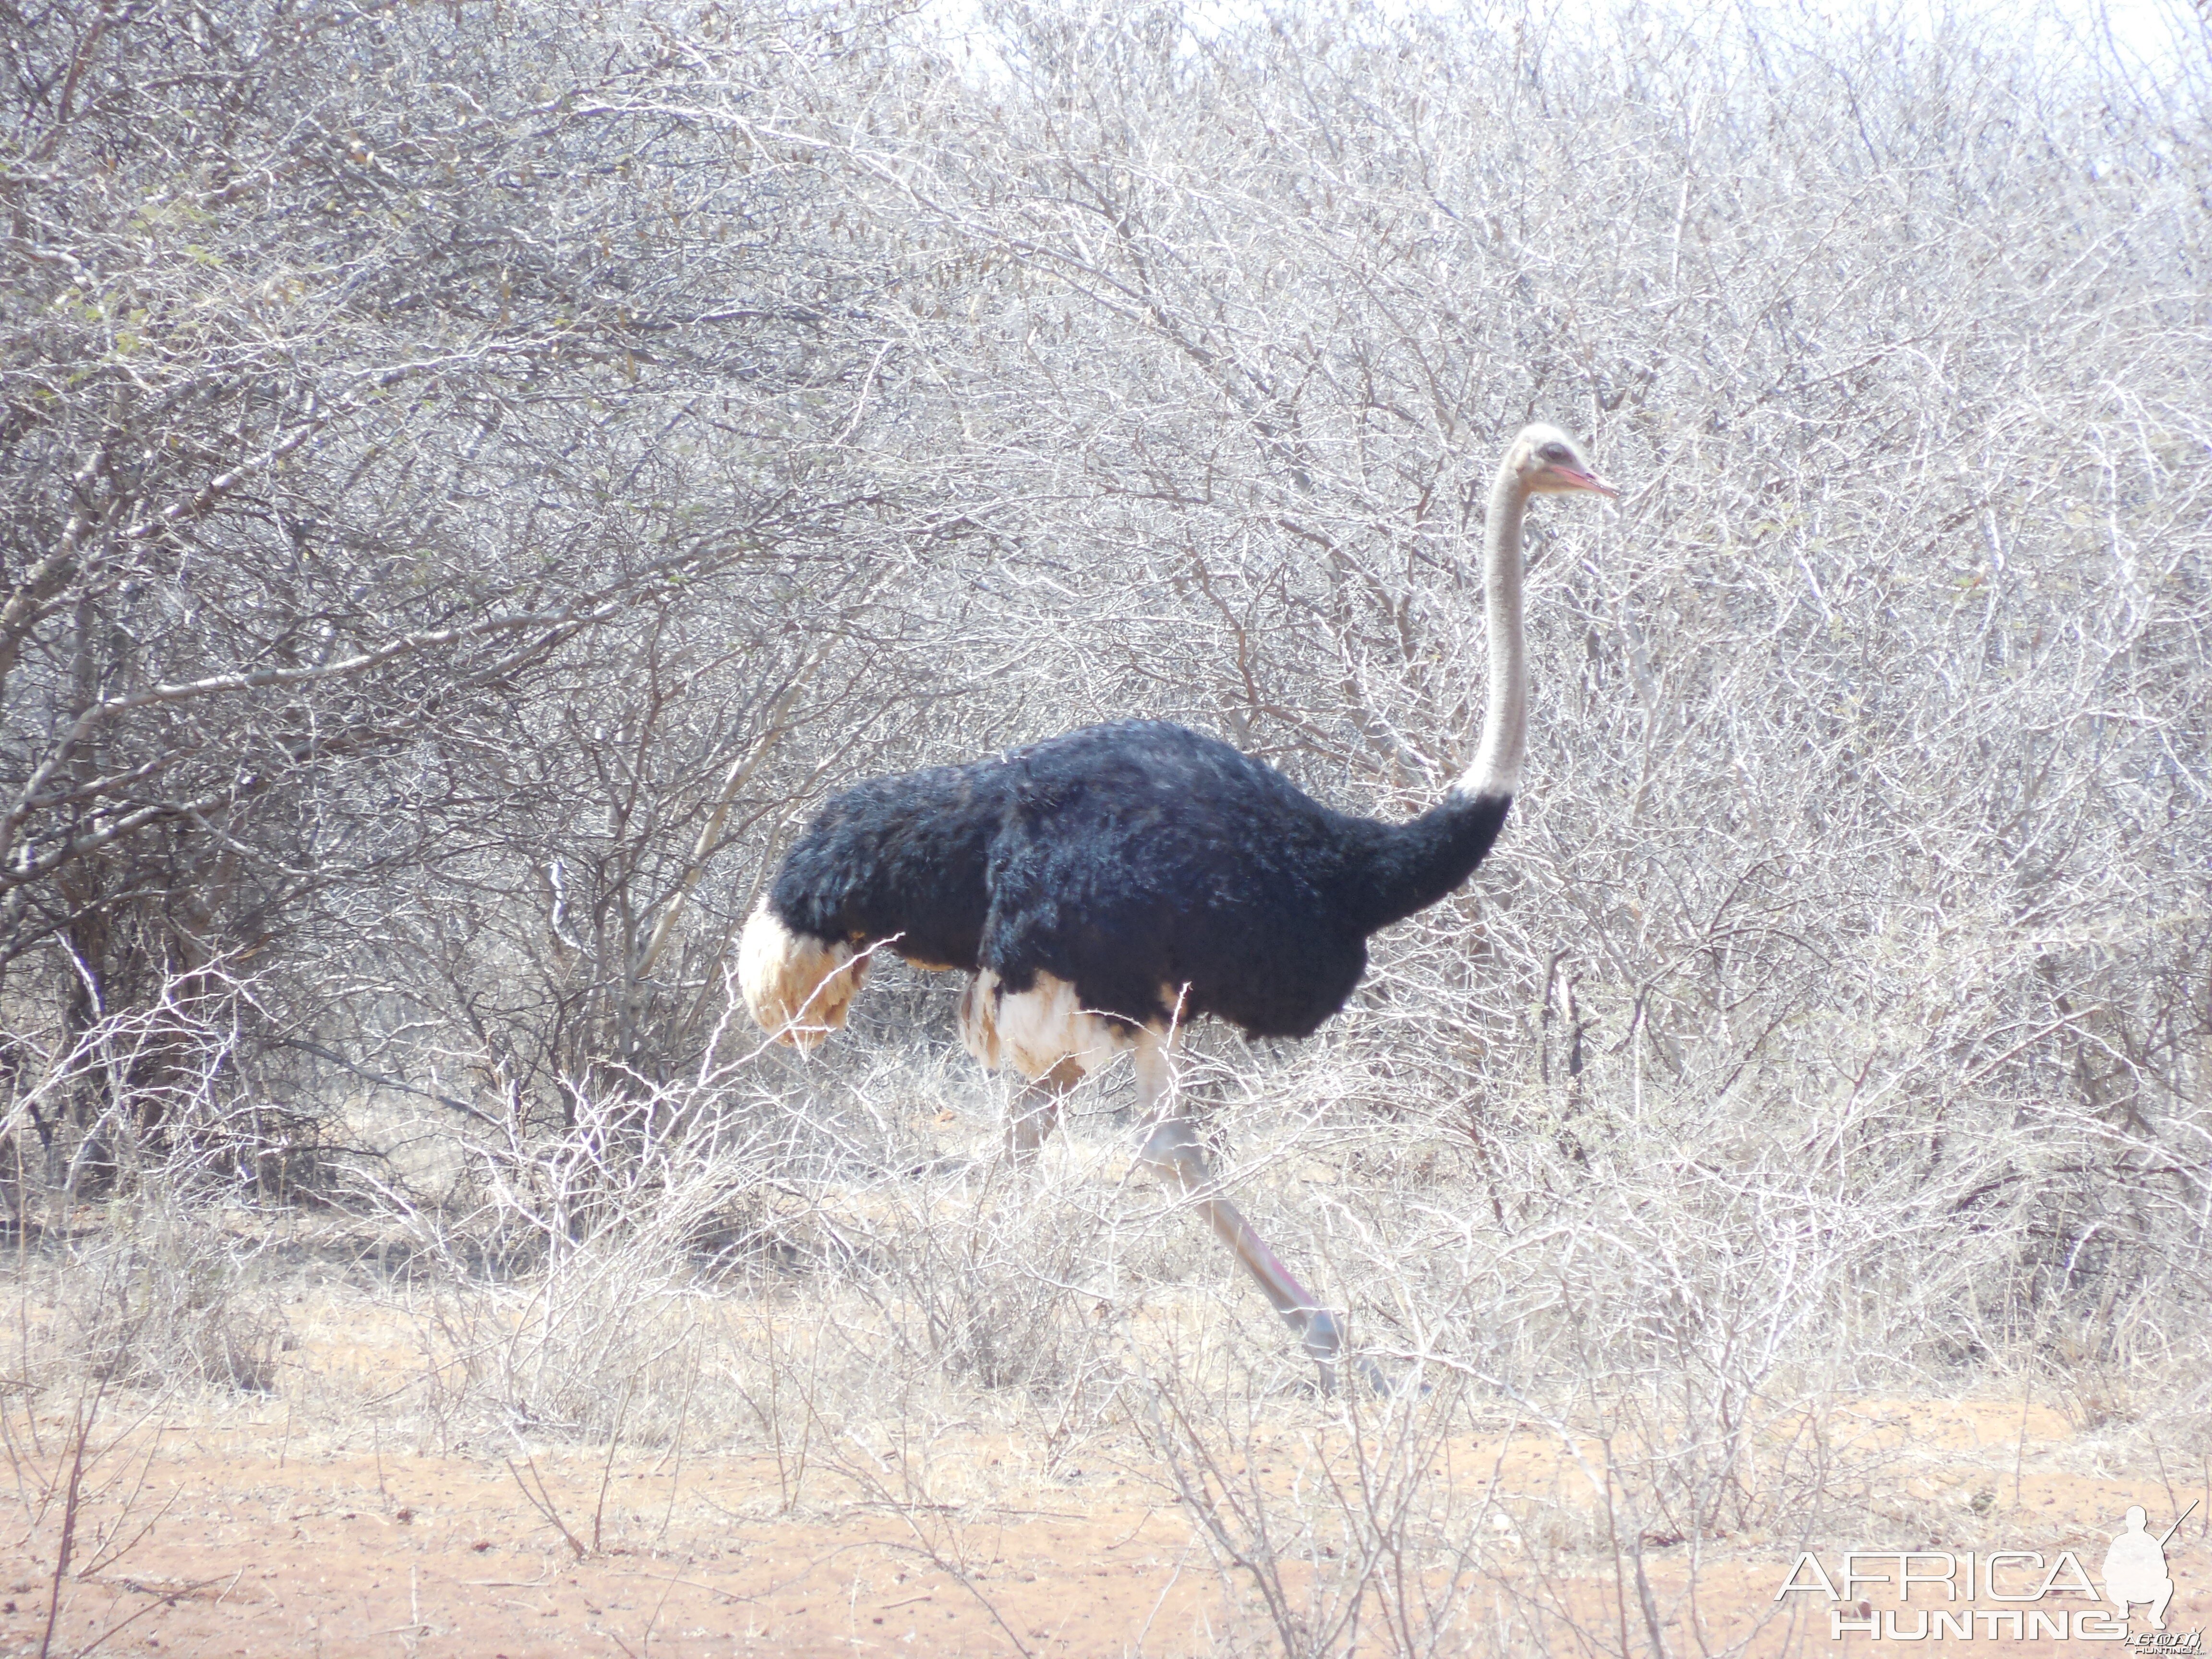
<svg viewBox="0 0 2212 1659">
<path fill-rule="evenodd" d="M 1411 823 L 1334 812 L 1274 768 L 1164 721 L 872 779 L 823 807 L 745 922 L 739 982 L 752 1015 L 816 1046 L 845 1022 L 874 945 L 971 973 L 962 1042 L 1029 1079 L 1009 1121 L 1020 1159 L 1051 1135 L 1064 1091 L 1135 1051 L 1139 1161 L 1199 1201 L 1327 1385 L 1343 1329 L 1221 1197 L 1170 1088 L 1170 1046 L 1201 1013 L 1254 1037 L 1310 1035 L 1365 973 L 1367 936 L 1482 863 L 1528 732 L 1522 511 L 1568 491 L 1615 493 L 1564 431 L 1522 429 L 1484 524 L 1482 739 L 1440 805 Z"/>
</svg>

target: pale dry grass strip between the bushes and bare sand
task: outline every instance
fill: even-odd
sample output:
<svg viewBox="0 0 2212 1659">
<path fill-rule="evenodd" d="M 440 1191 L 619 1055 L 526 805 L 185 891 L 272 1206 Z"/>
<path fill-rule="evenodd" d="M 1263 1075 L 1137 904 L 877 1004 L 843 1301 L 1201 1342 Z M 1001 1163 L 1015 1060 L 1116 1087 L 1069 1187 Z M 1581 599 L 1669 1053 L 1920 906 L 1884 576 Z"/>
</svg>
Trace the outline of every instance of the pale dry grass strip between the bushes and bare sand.
<svg viewBox="0 0 2212 1659">
<path fill-rule="evenodd" d="M 1099 1652 L 1672 1652 L 1694 1630 L 1785 1652 L 1812 1626 L 1761 1586 L 1798 1548 L 2048 1542 L 2037 1491 L 2095 1540 L 2124 1495 L 2179 1511 L 2203 1486 L 2179 1321 L 2146 1314 L 2161 1354 L 2088 1365 L 2026 1325 L 1960 1360 L 2017 1241 L 1936 1237 L 1896 1186 L 1838 1194 L 1657 1099 L 1606 1157 L 1544 1139 L 1500 1172 L 1451 1119 L 1345 1119 L 1340 1066 L 1194 1062 L 1232 1183 L 1405 1374 L 1391 1398 L 1323 1394 L 1130 1177 L 1121 1084 L 1077 1095 L 1024 1172 L 973 1073 L 860 1037 L 803 1108 L 739 1066 L 655 1099 L 681 1126 L 659 1139 L 635 1099 L 580 1102 L 555 1141 L 487 1135 L 436 1203 L 387 1172 L 347 1212 L 58 1214 L 9 1259 L 22 1546 L 55 1573 L 84 1447 L 86 1542 L 44 1595 L 62 1624 L 133 1551 L 197 1582 L 164 1504 L 210 1475 L 161 1436 L 243 1436 L 279 1467 L 447 1471 L 469 1528 L 577 1573 L 723 1584 L 761 1562 L 710 1559 L 717 1517 L 805 1528 L 823 1559 L 956 1595 L 960 1650 L 1057 1650 L 1033 1586 L 1066 1551 L 1175 1610 L 1172 1637 L 1133 1635 L 1117 1588 Z M 1009 1526 L 1062 1531 L 1018 1573 Z M 812 1628 L 790 1584 L 745 1593 Z"/>
</svg>

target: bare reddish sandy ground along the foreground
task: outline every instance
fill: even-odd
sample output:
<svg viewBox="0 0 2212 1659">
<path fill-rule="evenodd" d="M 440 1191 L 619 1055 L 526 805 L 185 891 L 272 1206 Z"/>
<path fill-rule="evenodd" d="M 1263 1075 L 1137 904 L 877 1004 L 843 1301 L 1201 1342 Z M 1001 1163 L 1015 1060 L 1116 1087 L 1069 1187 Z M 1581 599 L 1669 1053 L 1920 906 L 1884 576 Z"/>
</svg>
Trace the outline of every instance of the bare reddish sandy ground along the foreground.
<svg viewBox="0 0 2212 1659">
<path fill-rule="evenodd" d="M 2177 1595 L 2168 1628 L 2212 1624 L 2212 1548 L 2201 1471 L 2170 1489 L 2081 1438 L 2044 1407 L 2011 1402 L 1867 1402 L 1865 1425 L 1900 1438 L 1900 1502 L 1927 1515 L 1922 1548 L 2070 1548 L 2090 1575 L 2126 1504 L 2161 1531 L 2192 1498 L 2197 1513 L 2168 1546 Z M 18 1425 L 24 1420 L 18 1416 Z M 22 1436 L 18 1436 L 22 1438 Z M 49 1458 L 66 1420 L 40 1422 Z M 2117 1444 L 2117 1442 L 2110 1442 Z M 1285 1442 L 1287 1447 L 1287 1442 Z M 18 1491 L 66 1475 L 18 1449 Z M 1467 1447 L 1469 1469 L 1504 1471 L 1504 1489 L 1542 1486 L 1555 1447 L 1524 1436 Z M 1022 1449 L 971 1436 L 938 1460 Z M 1290 1453 L 1285 1453 L 1287 1473 Z M 2121 1464 L 2128 1467 L 2121 1467 Z M 865 1482 L 836 1482 L 803 1509 L 779 1511 L 768 1458 L 677 1462 L 533 1453 L 533 1460 L 409 1455 L 389 1447 L 303 1447 L 281 1416 L 221 1427 L 124 1433 L 86 1471 L 88 1493 L 71 1575 L 60 1584 L 55 1655 L 1201 1655 L 1281 1650 L 1239 1575 L 1217 1571 L 1186 1509 L 1152 1471 L 1062 1469 L 998 1482 L 1002 1502 L 927 1502 L 896 1458 L 876 1455 Z M 2181 1473 L 2181 1471 L 2172 1471 Z M 66 1486 L 66 1478 L 62 1482 Z M 989 1486 L 989 1480 L 971 1482 Z M 1511 1502 L 1511 1498 L 1509 1498 Z M 0 1652 L 46 1641 L 60 1511 L 31 1528 L 27 1504 L 0 1533 L 9 1559 Z M 1504 1522 L 1500 1522 L 1504 1526 Z M 573 1540 L 573 1542 L 571 1542 Z M 1891 1540 L 1896 1542 L 1896 1540 Z M 1493 1568 L 1444 1650 L 1650 1650 L 1628 1573 L 1604 1555 L 1520 1551 L 1495 1540 Z M 1891 1635 L 1832 1637 L 1836 1604 L 1818 1593 L 1776 1599 L 1794 1544 L 1743 1537 L 1646 1553 L 1666 1652 L 1889 1652 Z M 1843 1546 L 1818 1551 L 1840 1575 Z M 1318 1564 L 1325 1566 L 1325 1564 Z M 1920 1571 L 1931 1571 L 1929 1562 Z M 2024 1564 L 2013 1573 L 2020 1593 Z M 1290 1577 L 1301 1579 L 1305 1568 Z M 1882 1586 L 1854 1586 L 1867 1617 L 1896 1608 Z M 1942 1608 L 1916 1588 L 1918 1608 Z M 1984 1610 L 2004 1604 L 1980 1599 Z M 2077 1613 L 2081 1595 L 2037 1608 Z M 1863 1617 L 1856 1606 L 1840 1608 Z M 1940 1630 L 1944 1626 L 1938 1626 Z M 2013 1639 L 1986 1621 L 1966 1641 L 1907 1652 L 2121 1652 L 2121 1641 Z M 2135 1632 L 2148 1632 L 2143 1608 Z M 1531 1635 L 1535 1632 L 1535 1635 Z M 1986 1635 L 1984 1635 L 1986 1632 Z M 1460 1646 L 1453 1646 L 1460 1644 Z M 1358 1652 L 1389 1652 L 1369 1626 Z"/>
</svg>

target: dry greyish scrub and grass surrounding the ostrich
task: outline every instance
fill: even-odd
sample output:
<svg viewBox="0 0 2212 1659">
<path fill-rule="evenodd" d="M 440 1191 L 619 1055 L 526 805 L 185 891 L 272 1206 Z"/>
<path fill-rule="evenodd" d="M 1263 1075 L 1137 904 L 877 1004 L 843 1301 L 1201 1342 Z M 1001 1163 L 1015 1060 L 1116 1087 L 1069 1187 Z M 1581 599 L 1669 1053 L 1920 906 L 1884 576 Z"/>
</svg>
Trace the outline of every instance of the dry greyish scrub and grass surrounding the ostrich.
<svg viewBox="0 0 2212 1659">
<path fill-rule="evenodd" d="M 1637 4 L 1004 4 L 989 51 L 874 4 L 7 11 L 24 1606 L 175 1524 L 111 1482 L 95 1528 L 75 1449 L 241 1416 L 511 1464 L 580 1553 L 575 1460 L 741 1460 L 723 1504 L 938 1566 L 1000 1491 L 949 1449 L 1113 1467 L 1181 1498 L 1223 1650 L 1301 1655 L 1681 1650 L 1730 1551 L 2022 1535 L 2017 1471 L 1916 1495 L 1865 1400 L 2201 1482 L 2179 27 L 2146 71 Z M 1316 1040 L 1186 1077 L 1431 1385 L 1318 1398 L 1126 1179 L 1126 1079 L 1018 1177 L 953 987 L 883 971 L 799 1062 L 726 958 L 827 787 L 1082 721 L 1433 799 L 1526 418 L 1626 489 L 1533 515 L 1498 854 Z"/>
</svg>

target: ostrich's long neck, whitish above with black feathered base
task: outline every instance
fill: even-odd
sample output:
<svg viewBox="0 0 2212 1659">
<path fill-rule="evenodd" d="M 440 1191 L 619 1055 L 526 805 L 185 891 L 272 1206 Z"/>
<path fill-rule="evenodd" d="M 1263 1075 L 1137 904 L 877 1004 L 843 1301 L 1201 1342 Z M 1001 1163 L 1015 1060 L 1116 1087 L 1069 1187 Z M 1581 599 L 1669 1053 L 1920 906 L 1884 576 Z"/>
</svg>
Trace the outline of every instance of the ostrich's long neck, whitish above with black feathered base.
<svg viewBox="0 0 2212 1659">
<path fill-rule="evenodd" d="M 1482 608 L 1491 633 L 1491 695 L 1475 761 L 1442 805 L 1411 823 L 1365 821 L 1349 920 L 1363 933 L 1427 909 L 1482 863 L 1498 841 L 1528 748 L 1528 664 L 1522 648 L 1520 529 L 1528 489 L 1498 469 L 1482 538 Z"/>
</svg>

